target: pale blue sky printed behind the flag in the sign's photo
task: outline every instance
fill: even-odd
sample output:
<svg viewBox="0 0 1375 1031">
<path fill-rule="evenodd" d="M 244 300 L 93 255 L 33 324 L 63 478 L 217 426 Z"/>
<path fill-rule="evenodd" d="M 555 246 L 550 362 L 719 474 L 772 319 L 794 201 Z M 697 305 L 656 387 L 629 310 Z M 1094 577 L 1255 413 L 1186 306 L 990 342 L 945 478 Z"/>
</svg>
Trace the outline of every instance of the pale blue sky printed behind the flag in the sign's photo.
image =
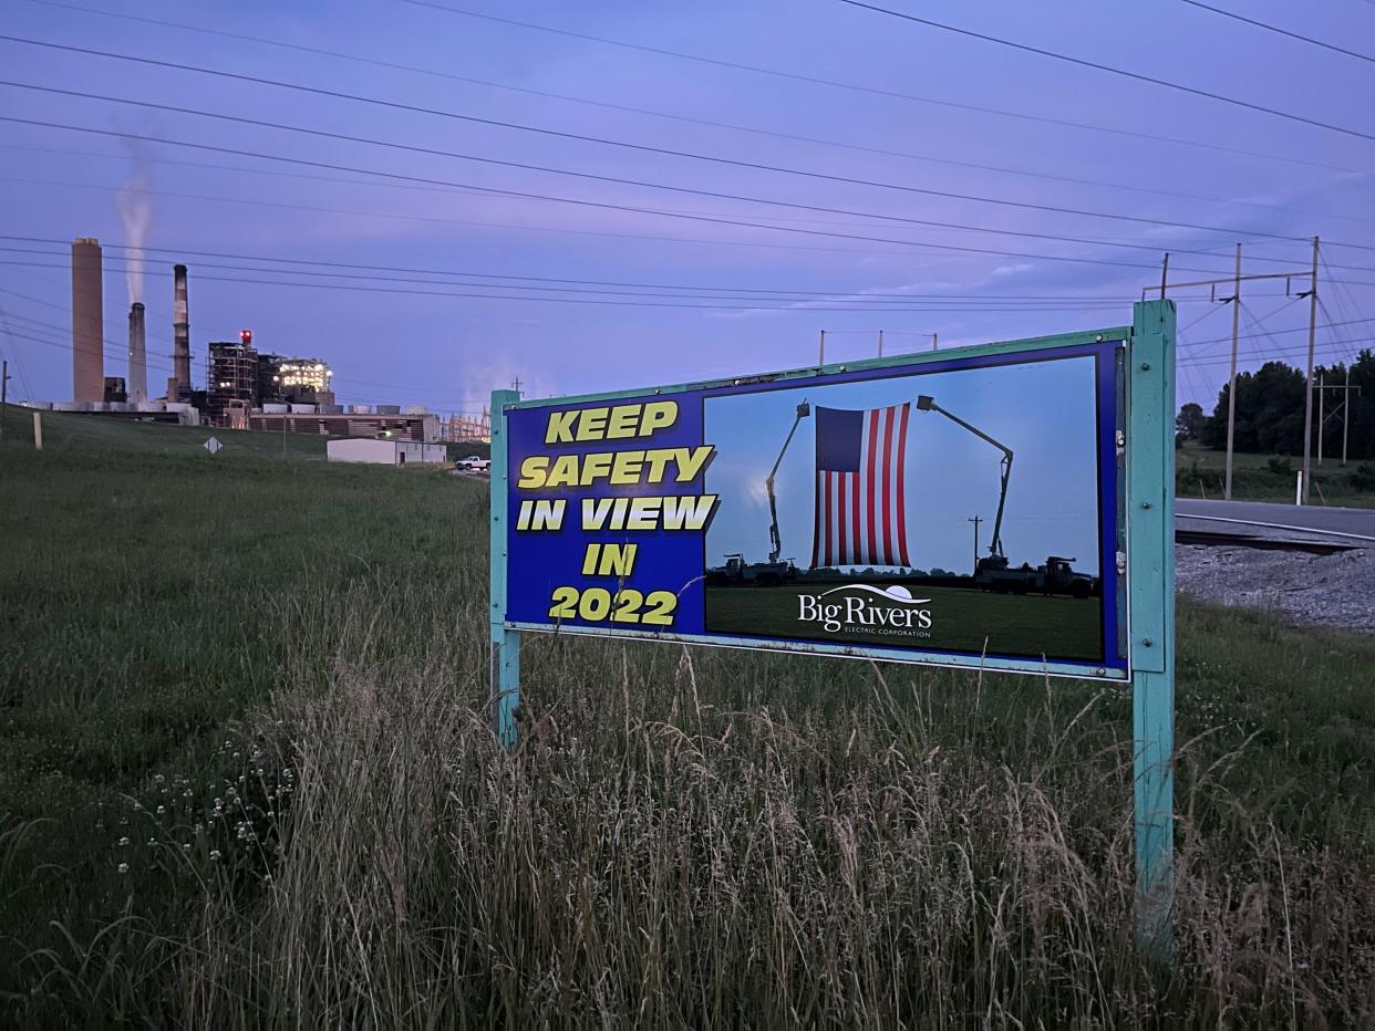
<svg viewBox="0 0 1375 1031">
<path fill-rule="evenodd" d="M 708 397 L 704 440 L 716 445 L 707 489 L 720 495 L 707 532 L 707 564 L 727 553 L 748 561 L 769 554 L 764 478 L 778 458 L 798 403 L 879 408 L 931 395 L 936 404 L 1013 451 L 1002 542 L 1013 565 L 1046 555 L 1077 558 L 1097 575 L 1097 448 L 1094 360 L 1060 359 L 993 368 L 906 375 L 758 395 Z M 908 429 L 908 557 L 920 569 L 971 572 L 975 516 L 987 554 L 998 506 L 1002 452 L 935 411 L 916 404 Z M 815 414 L 804 418 L 774 481 L 782 558 L 811 562 Z"/>
</svg>

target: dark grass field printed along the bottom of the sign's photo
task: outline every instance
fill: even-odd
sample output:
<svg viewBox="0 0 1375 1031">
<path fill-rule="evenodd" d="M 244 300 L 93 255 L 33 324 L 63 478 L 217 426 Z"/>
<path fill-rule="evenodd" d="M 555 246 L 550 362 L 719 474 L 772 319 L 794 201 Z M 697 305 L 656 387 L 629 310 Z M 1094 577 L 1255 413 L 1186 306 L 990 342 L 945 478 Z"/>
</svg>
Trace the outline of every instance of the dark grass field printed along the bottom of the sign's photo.
<svg viewBox="0 0 1375 1031">
<path fill-rule="evenodd" d="M 707 630 L 754 636 L 810 638 L 870 647 L 916 647 L 975 654 L 1044 658 L 1103 658 L 1099 598 L 989 594 L 954 587 L 906 584 L 914 598 L 930 598 L 930 631 L 886 632 L 824 628 L 799 621 L 798 597 L 833 584 L 785 587 L 708 587 Z M 828 601 L 835 601 L 829 598 Z"/>
</svg>

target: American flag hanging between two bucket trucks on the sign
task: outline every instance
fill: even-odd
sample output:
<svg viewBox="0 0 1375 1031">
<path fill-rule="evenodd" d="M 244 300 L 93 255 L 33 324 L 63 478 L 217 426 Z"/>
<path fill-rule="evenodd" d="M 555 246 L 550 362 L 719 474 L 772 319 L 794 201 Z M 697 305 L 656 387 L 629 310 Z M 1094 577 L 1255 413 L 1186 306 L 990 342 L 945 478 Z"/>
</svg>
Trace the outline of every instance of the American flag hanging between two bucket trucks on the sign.
<svg viewBox="0 0 1375 1031">
<path fill-rule="evenodd" d="M 811 568 L 912 565 L 903 466 L 912 404 L 817 408 Z"/>
</svg>

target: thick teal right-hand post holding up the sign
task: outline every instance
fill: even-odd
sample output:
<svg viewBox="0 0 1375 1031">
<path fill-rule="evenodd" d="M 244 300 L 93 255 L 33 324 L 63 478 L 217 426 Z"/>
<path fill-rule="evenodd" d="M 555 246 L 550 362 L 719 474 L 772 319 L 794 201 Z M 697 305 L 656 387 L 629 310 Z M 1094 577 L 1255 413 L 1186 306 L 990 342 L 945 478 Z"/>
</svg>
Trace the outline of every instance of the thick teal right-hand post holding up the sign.
<svg viewBox="0 0 1375 1031">
<path fill-rule="evenodd" d="M 1174 960 L 1174 302 L 1136 305 L 1128 411 L 1137 939 Z"/>
</svg>

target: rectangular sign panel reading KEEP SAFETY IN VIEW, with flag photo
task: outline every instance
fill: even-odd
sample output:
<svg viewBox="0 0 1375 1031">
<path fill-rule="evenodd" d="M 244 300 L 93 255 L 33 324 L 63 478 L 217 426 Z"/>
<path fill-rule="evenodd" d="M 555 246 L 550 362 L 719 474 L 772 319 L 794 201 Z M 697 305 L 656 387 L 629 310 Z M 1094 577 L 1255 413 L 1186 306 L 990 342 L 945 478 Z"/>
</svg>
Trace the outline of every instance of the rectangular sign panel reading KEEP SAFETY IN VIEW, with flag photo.
<svg viewBox="0 0 1375 1031">
<path fill-rule="evenodd" d="M 494 621 L 1128 679 L 1129 338 L 506 404 Z"/>
</svg>

